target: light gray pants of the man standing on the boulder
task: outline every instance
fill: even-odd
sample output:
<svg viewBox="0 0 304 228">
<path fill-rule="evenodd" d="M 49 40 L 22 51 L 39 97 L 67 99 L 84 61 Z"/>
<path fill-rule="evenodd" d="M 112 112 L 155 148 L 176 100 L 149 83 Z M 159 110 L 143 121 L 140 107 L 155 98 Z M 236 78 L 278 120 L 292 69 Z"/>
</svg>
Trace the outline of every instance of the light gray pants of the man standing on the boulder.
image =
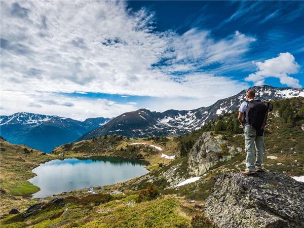
<svg viewBox="0 0 304 228">
<path fill-rule="evenodd" d="M 246 170 L 254 171 L 255 168 L 262 168 L 263 153 L 265 149 L 264 135 L 256 136 L 256 131 L 249 125 L 245 125 L 245 151 Z M 256 150 L 256 158 L 254 157 L 254 149 Z"/>
</svg>

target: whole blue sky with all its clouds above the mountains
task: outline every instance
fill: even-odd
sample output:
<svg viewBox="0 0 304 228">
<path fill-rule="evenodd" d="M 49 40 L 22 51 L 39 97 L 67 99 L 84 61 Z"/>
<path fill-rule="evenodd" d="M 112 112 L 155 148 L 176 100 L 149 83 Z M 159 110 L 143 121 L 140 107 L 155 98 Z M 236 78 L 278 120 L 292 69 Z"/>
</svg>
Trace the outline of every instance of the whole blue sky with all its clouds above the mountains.
<svg viewBox="0 0 304 228">
<path fill-rule="evenodd" d="M 4 115 L 193 109 L 304 85 L 304 2 L 1 2 Z"/>
</svg>

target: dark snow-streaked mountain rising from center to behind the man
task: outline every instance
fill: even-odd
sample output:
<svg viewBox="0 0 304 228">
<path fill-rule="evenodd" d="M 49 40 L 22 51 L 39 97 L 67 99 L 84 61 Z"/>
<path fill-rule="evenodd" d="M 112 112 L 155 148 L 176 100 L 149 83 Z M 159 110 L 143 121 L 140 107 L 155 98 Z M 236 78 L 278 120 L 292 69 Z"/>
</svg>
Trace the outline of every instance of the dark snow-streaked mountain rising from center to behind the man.
<svg viewBox="0 0 304 228">
<path fill-rule="evenodd" d="M 304 97 L 304 89 L 276 88 L 271 86 L 252 87 L 256 98 L 261 100 L 279 100 L 289 97 Z M 139 109 L 126 112 L 105 125 L 84 134 L 79 140 L 106 134 L 121 134 L 128 137 L 182 135 L 200 128 L 208 121 L 226 112 L 239 108 L 245 100 L 246 90 L 237 95 L 221 99 L 208 107 L 194 110 L 167 110 L 164 112 Z"/>
</svg>

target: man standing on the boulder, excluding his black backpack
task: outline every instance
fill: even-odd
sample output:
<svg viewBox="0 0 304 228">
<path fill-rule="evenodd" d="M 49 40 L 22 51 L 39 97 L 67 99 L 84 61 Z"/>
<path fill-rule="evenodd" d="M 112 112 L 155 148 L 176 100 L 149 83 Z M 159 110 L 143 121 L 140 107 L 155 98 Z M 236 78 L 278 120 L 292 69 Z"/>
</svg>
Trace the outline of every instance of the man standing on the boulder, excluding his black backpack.
<svg viewBox="0 0 304 228">
<path fill-rule="evenodd" d="M 244 175 L 253 174 L 262 171 L 263 153 L 264 153 L 264 135 L 258 136 L 255 128 L 249 123 L 243 121 L 243 115 L 246 113 L 248 103 L 258 102 L 255 100 L 254 90 L 248 90 L 246 93 L 247 101 L 244 101 L 239 108 L 239 121 L 244 126 L 245 133 L 245 151 L 246 155 L 246 170 L 242 172 Z M 256 158 L 254 157 L 254 149 L 256 149 Z"/>
</svg>

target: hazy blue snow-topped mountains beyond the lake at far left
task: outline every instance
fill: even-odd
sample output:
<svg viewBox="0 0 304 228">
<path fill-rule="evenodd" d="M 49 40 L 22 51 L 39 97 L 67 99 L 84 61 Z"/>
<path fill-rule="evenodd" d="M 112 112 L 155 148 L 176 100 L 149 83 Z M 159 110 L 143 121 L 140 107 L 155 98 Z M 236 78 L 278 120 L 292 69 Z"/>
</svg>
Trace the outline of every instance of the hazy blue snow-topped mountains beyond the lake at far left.
<svg viewBox="0 0 304 228">
<path fill-rule="evenodd" d="M 109 121 L 108 118 L 90 118 L 77 121 L 58 116 L 18 112 L 0 116 L 1 135 L 9 142 L 26 144 L 50 153 L 63 143 L 72 142 L 84 133 Z"/>
</svg>

